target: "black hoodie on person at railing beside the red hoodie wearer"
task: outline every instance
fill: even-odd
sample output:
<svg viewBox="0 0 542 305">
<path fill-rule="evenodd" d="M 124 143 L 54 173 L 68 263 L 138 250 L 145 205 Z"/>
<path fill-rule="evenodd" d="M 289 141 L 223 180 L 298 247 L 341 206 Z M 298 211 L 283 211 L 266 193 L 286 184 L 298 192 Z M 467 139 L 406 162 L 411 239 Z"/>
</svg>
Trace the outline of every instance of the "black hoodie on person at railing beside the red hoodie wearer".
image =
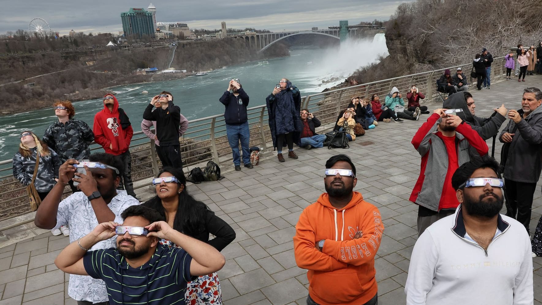
<svg viewBox="0 0 542 305">
<path fill-rule="evenodd" d="M 160 141 L 160 147 L 179 145 L 180 108 L 170 101 L 167 108 L 154 109 L 153 104 L 147 105 L 143 118 L 156 120 L 156 137 Z"/>
</svg>

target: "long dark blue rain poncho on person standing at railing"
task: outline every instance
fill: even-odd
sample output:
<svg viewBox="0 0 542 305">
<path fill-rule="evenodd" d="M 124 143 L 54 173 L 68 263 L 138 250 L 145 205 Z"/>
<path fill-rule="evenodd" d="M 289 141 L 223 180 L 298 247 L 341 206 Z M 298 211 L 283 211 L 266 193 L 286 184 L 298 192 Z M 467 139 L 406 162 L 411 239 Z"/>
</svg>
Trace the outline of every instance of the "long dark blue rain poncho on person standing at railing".
<svg viewBox="0 0 542 305">
<path fill-rule="evenodd" d="M 273 148 L 276 148 L 276 135 L 293 132 L 294 143 L 301 145 L 301 130 L 303 123 L 299 117 L 301 112 L 301 94 L 299 89 L 287 82 L 286 90 L 276 95 L 269 94 L 266 98 L 269 129 L 273 138 Z M 283 143 L 286 147 L 286 142 Z M 281 149 L 281 148 L 279 148 Z"/>
</svg>

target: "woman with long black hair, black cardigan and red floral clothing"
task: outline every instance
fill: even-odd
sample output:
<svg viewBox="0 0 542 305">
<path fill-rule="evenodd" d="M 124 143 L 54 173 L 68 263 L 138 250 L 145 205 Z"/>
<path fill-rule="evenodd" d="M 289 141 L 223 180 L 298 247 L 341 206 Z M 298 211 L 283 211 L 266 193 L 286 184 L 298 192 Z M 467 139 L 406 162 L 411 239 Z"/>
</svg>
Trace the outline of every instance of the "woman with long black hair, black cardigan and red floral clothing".
<svg viewBox="0 0 542 305">
<path fill-rule="evenodd" d="M 173 229 L 201 240 L 222 251 L 235 239 L 235 231 L 224 220 L 217 217 L 207 205 L 194 199 L 186 190 L 186 179 L 182 171 L 164 167 L 153 179 L 156 196 L 143 205 L 156 209 Z M 209 233 L 215 238 L 209 240 Z M 166 246 L 176 246 L 170 240 L 161 240 Z M 222 304 L 222 293 L 216 272 L 200 276 L 188 283 L 186 304 Z"/>
</svg>

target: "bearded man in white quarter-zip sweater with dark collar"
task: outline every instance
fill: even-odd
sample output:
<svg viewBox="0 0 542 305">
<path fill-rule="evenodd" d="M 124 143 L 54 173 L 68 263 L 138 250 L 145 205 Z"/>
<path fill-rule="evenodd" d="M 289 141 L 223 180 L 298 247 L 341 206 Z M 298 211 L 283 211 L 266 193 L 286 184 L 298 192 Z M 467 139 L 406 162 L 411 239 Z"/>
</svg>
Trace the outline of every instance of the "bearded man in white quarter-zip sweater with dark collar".
<svg viewBox="0 0 542 305">
<path fill-rule="evenodd" d="M 454 173 L 461 203 L 418 238 L 405 284 L 407 305 L 532 305 L 531 241 L 517 220 L 499 214 L 499 163 L 477 157 Z"/>
</svg>

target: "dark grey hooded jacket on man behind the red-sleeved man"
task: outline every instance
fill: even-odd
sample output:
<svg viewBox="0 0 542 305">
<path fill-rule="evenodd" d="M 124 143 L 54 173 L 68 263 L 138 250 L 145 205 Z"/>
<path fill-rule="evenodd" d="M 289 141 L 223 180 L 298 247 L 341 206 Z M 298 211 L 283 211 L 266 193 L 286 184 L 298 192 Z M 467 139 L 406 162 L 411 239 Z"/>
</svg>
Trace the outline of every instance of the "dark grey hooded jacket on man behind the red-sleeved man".
<svg viewBox="0 0 542 305">
<path fill-rule="evenodd" d="M 480 137 L 486 141 L 487 139 L 495 136 L 499 132 L 499 128 L 506 118 L 499 112 L 495 112 L 495 115 L 489 118 L 482 118 L 473 115 L 467 106 L 465 95 L 468 92 L 457 92 L 451 94 L 442 104 L 444 109 L 461 109 L 462 112 L 457 112 L 457 116 L 467 122 L 470 127 L 478 132 Z M 468 94 L 470 96 L 470 93 Z M 473 110 L 474 111 L 474 110 Z"/>
</svg>

